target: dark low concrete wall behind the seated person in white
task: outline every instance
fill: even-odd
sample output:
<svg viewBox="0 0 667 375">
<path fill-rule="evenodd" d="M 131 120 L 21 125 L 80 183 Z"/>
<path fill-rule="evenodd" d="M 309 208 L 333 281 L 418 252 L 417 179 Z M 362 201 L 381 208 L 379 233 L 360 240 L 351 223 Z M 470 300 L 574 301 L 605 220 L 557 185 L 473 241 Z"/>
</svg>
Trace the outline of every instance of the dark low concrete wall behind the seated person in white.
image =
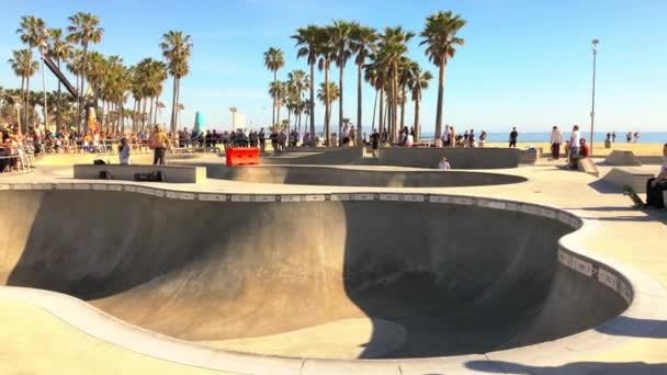
<svg viewBox="0 0 667 375">
<path fill-rule="evenodd" d="M 438 168 L 448 158 L 454 169 L 517 168 L 521 152 L 516 148 L 381 148 L 380 164 Z"/>
</svg>

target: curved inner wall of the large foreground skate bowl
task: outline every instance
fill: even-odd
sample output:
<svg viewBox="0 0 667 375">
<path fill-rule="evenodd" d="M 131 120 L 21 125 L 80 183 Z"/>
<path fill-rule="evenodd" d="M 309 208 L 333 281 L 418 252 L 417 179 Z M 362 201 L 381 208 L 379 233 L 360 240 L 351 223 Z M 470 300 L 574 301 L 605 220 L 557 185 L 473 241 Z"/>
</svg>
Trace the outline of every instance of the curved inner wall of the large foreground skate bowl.
<svg viewBox="0 0 667 375">
<path fill-rule="evenodd" d="M 192 341 L 368 318 L 358 357 L 441 356 L 553 340 L 626 307 L 557 261 L 570 227 L 515 211 L 4 191 L 0 227 L 0 284 Z M 400 342 L 387 344 L 387 327 Z"/>
</svg>

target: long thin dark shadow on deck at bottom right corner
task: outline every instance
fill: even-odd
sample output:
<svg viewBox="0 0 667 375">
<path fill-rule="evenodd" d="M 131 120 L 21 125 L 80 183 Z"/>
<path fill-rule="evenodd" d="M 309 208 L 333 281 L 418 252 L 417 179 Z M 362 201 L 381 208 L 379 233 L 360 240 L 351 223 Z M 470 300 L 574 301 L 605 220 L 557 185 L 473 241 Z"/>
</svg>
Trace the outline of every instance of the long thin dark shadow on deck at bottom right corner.
<svg viewBox="0 0 667 375">
<path fill-rule="evenodd" d="M 534 374 L 534 375 L 664 375 L 667 363 L 645 362 L 573 362 L 561 366 L 532 366 L 505 361 L 470 361 L 470 370 L 490 374 Z"/>
</svg>

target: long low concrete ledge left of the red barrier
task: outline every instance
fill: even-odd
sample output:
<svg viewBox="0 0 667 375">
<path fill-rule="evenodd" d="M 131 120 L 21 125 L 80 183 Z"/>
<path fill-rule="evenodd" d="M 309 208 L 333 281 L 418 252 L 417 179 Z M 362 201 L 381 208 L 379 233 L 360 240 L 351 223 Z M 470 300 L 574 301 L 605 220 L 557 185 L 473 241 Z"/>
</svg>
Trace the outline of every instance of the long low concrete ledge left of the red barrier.
<svg viewBox="0 0 667 375">
<path fill-rule="evenodd" d="M 101 171 L 108 171 L 112 180 L 134 181 L 135 173 L 160 171 L 165 182 L 197 183 L 206 180 L 206 169 L 203 167 L 177 166 L 118 166 L 118 164 L 76 164 L 75 179 L 98 180 Z"/>
</svg>

